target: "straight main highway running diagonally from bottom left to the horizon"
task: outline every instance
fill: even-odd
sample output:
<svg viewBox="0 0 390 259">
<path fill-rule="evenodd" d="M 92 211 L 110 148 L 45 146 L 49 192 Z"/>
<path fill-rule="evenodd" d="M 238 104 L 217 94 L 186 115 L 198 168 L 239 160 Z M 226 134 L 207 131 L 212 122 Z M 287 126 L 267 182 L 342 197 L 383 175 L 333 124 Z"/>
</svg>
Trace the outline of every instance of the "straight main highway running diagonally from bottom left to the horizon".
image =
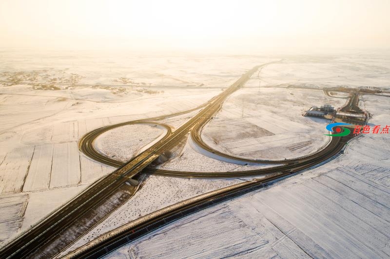
<svg viewBox="0 0 390 259">
<path fill-rule="evenodd" d="M 155 145 L 146 149 L 113 173 L 95 182 L 59 210 L 33 226 L 17 239 L 8 243 L 0 250 L 0 258 L 25 258 L 32 254 L 38 255 L 39 248 L 43 244 L 56 238 L 62 230 L 70 226 L 72 222 L 76 221 L 78 218 L 82 217 L 98 202 L 107 198 L 116 191 L 119 186 L 124 184 L 129 178 L 134 177 L 164 151 L 176 146 L 177 142 L 180 141 L 190 129 L 194 128 L 196 125 L 203 125 L 206 123 L 215 112 L 219 110 L 222 102 L 227 96 L 236 91 L 249 80 L 254 72 L 265 65 L 266 64 L 256 66 L 243 74 L 228 89 L 207 102 L 201 111 L 180 128 L 176 129 L 174 132 L 168 129 L 168 133 Z"/>
</svg>

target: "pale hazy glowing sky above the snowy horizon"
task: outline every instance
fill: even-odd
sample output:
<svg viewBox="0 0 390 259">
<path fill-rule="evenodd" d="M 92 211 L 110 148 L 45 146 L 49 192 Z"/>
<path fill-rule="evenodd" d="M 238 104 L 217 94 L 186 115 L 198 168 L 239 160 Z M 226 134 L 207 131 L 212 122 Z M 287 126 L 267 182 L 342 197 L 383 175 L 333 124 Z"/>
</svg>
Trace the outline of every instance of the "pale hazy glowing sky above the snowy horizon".
<svg viewBox="0 0 390 259">
<path fill-rule="evenodd" d="M 0 47 L 387 48 L 390 0 L 0 0 Z"/>
</svg>

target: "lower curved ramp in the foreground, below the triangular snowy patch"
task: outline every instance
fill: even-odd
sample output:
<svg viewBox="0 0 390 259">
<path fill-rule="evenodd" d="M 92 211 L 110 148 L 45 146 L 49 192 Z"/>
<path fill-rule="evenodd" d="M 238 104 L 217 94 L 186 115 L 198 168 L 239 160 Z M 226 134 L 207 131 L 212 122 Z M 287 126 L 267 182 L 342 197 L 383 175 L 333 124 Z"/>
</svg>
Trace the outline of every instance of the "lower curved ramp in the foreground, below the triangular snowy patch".
<svg viewBox="0 0 390 259">
<path fill-rule="evenodd" d="M 63 258 L 100 258 L 114 251 L 118 247 L 132 240 L 136 240 L 146 233 L 154 231 L 165 224 L 174 222 L 177 219 L 190 215 L 206 207 L 232 199 L 238 195 L 264 187 L 273 181 L 280 180 L 289 175 L 291 175 L 291 173 L 281 173 L 262 180 L 247 181 L 173 204 L 109 231 L 97 239 L 92 240 L 91 242 L 70 252 Z"/>
</svg>

